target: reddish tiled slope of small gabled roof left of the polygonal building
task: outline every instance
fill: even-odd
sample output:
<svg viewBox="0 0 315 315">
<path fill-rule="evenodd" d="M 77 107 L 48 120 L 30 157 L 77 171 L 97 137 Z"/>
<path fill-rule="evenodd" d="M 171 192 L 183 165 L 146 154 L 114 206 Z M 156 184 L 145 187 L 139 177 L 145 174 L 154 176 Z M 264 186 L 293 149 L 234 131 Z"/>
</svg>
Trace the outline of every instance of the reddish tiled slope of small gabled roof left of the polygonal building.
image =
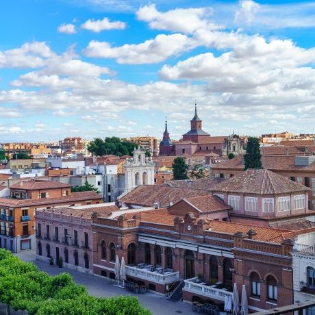
<svg viewBox="0 0 315 315">
<path fill-rule="evenodd" d="M 213 196 L 213 195 L 190 197 L 190 198 L 184 199 L 184 201 L 188 201 L 188 203 L 192 204 L 201 212 L 211 212 L 211 211 L 231 209 L 231 206 L 226 205 L 222 199 L 220 199 L 218 196 Z"/>
</svg>

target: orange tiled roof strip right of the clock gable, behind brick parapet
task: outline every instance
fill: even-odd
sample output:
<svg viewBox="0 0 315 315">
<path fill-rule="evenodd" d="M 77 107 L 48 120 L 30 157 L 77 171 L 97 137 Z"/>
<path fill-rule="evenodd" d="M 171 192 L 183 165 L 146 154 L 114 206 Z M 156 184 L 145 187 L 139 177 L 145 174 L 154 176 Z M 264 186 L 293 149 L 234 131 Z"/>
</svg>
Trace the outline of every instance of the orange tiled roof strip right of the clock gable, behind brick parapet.
<svg viewBox="0 0 315 315">
<path fill-rule="evenodd" d="M 257 234 L 253 236 L 253 239 L 262 240 L 266 242 L 270 240 L 273 240 L 273 242 L 281 242 L 281 240 L 277 240 L 276 238 L 281 236 L 281 234 L 288 232 L 285 229 L 258 227 L 248 224 L 223 222 L 218 220 L 211 220 L 209 223 L 209 227 L 211 231 L 216 231 L 225 234 L 236 234 L 236 232 L 238 231 L 246 234 L 250 229 L 253 229 L 255 232 L 257 232 Z"/>
</svg>

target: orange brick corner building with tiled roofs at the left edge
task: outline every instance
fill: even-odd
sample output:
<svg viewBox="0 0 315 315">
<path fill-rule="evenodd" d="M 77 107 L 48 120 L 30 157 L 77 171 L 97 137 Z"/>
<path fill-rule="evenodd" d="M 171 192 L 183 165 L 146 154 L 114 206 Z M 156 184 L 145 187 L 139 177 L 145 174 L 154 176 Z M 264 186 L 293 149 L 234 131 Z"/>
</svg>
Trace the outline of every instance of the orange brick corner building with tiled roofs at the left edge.
<svg viewBox="0 0 315 315">
<path fill-rule="evenodd" d="M 11 198 L 0 198 L 0 247 L 14 253 L 35 247 L 34 211 L 102 202 L 96 192 L 73 192 L 56 181 L 21 181 L 10 186 Z"/>
</svg>

